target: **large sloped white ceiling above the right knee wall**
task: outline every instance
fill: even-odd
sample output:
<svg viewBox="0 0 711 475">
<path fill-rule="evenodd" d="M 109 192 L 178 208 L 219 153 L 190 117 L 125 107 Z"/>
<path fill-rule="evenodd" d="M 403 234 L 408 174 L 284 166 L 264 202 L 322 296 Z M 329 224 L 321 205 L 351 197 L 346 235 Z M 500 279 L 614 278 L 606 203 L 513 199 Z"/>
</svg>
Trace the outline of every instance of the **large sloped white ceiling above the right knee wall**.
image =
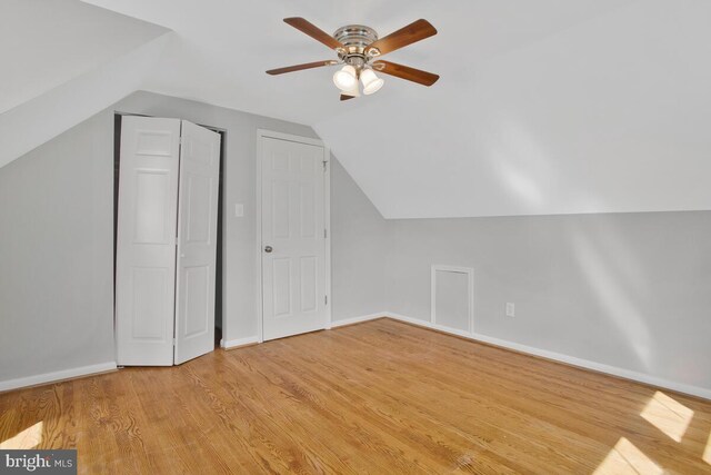
<svg viewBox="0 0 711 475">
<path fill-rule="evenodd" d="M 387 217 L 711 209 L 709 24 L 637 2 L 316 130 Z"/>
</svg>

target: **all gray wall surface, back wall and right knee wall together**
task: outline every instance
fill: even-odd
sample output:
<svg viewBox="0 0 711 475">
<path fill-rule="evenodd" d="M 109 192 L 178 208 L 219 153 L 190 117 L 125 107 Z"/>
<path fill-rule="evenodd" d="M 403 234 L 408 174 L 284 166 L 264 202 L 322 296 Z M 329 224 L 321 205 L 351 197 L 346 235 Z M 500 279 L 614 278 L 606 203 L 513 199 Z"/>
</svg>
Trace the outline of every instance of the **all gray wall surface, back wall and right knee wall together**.
<svg viewBox="0 0 711 475">
<path fill-rule="evenodd" d="M 224 337 L 257 334 L 257 129 L 316 135 L 137 92 L 0 168 L 0 380 L 114 359 L 114 109 L 227 130 Z M 473 267 L 477 333 L 711 387 L 711 212 L 384 220 L 331 168 L 336 320 L 383 310 L 427 320 L 430 266 Z"/>
</svg>

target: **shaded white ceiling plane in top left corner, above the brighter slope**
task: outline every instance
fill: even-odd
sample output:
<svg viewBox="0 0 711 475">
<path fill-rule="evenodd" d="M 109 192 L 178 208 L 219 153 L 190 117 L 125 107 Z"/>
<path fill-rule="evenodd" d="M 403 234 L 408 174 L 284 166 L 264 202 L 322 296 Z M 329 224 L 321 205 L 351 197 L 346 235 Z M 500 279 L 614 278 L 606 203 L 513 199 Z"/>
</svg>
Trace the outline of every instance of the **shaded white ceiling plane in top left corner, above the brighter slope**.
<svg viewBox="0 0 711 475">
<path fill-rule="evenodd" d="M 76 0 L 2 0 L 0 113 L 164 32 Z"/>
</svg>

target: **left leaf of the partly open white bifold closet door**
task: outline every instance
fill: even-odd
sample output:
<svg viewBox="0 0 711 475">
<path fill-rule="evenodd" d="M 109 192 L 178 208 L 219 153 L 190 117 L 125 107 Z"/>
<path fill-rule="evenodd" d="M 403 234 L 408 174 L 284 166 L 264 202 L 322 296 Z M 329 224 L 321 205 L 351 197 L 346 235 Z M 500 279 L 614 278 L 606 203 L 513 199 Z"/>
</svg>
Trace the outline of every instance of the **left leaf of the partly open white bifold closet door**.
<svg viewBox="0 0 711 475">
<path fill-rule="evenodd" d="M 180 120 L 123 117 L 117 232 L 119 365 L 173 364 Z"/>
</svg>

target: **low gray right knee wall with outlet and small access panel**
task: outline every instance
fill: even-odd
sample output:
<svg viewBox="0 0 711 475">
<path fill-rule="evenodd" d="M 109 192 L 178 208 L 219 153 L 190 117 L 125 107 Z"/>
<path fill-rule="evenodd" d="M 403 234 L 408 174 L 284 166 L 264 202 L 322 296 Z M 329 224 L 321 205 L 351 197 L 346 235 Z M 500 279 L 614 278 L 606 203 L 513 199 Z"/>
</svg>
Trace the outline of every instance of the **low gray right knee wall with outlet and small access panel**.
<svg viewBox="0 0 711 475">
<path fill-rule="evenodd" d="M 711 388 L 711 211 L 391 220 L 390 310 L 474 269 L 474 331 Z M 505 317 L 505 303 L 515 317 Z"/>
</svg>

